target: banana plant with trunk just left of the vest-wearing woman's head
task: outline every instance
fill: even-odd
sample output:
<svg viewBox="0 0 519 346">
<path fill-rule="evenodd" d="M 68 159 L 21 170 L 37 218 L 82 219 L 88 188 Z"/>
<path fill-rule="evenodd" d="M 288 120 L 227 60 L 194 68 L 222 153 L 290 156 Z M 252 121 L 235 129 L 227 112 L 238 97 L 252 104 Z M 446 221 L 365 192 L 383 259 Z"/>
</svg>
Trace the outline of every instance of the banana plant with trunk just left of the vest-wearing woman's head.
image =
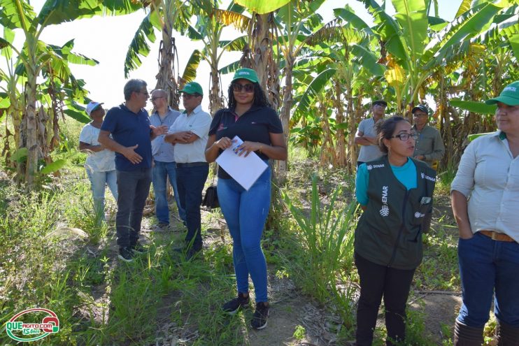
<svg viewBox="0 0 519 346">
<path fill-rule="evenodd" d="M 353 171 L 357 161 L 353 134 L 364 113 L 362 99 L 381 92 L 371 86 L 381 85 L 385 66 L 378 63 L 380 57 L 375 50 L 379 38 L 369 25 L 355 15 L 349 6 L 336 8 L 334 13 L 341 20 L 336 23 L 340 23 L 339 26 L 330 27 L 333 30 L 327 34 L 321 30 L 319 35 L 314 35 L 308 41 L 308 45 L 311 45 L 307 53 L 308 63 L 301 64 L 305 59 L 300 59 L 297 64 L 298 73 L 294 74 L 297 80 L 301 75 L 299 71 L 308 75 L 313 73 L 314 77 L 302 88 L 301 96 L 296 95 L 294 98 L 297 103 L 290 123 L 294 126 L 299 119 L 305 120 L 308 114 L 313 114 L 309 108 L 317 102 L 318 95 L 325 89 L 333 89 L 329 95 L 336 117 L 338 154 L 334 164 Z"/>
</svg>

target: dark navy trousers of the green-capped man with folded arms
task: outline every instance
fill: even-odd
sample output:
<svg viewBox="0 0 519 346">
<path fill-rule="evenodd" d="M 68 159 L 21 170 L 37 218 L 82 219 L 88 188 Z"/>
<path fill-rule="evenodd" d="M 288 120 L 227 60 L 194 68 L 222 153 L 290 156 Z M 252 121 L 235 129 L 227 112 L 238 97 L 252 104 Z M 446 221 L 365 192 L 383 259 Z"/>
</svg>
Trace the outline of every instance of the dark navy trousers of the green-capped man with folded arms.
<svg viewBox="0 0 519 346">
<path fill-rule="evenodd" d="M 190 245 L 192 242 L 192 250 L 195 251 L 202 248 L 200 206 L 208 173 L 208 164 L 193 167 L 177 166 L 176 168 L 178 196 L 180 206 L 185 210 L 187 226 L 185 244 Z"/>
</svg>

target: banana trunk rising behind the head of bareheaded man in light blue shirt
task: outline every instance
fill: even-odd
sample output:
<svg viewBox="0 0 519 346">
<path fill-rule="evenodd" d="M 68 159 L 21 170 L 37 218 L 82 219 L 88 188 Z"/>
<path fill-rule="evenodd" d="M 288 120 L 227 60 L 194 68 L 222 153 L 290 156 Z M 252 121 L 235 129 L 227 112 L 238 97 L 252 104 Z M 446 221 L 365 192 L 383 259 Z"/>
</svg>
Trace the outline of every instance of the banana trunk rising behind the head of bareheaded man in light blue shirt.
<svg viewBox="0 0 519 346">
<path fill-rule="evenodd" d="M 159 73 L 155 76 L 155 89 L 164 89 L 168 95 L 169 106 L 178 110 L 178 84 L 176 82 L 175 56 L 176 45 L 171 24 L 162 28 L 162 41 L 159 46 Z"/>
</svg>

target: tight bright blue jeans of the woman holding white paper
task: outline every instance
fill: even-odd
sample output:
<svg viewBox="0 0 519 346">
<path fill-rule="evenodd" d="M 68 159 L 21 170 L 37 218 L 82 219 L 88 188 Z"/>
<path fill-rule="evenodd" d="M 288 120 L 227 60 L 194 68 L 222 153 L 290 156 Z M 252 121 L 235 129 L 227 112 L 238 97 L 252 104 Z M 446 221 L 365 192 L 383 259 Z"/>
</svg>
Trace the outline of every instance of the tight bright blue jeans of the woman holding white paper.
<svg viewBox="0 0 519 346">
<path fill-rule="evenodd" d="M 234 179 L 218 179 L 218 201 L 233 240 L 232 259 L 236 286 L 241 293 L 249 290 L 253 280 L 256 302 L 268 301 L 266 294 L 266 261 L 262 238 L 271 199 L 270 167 L 248 191 Z"/>
</svg>

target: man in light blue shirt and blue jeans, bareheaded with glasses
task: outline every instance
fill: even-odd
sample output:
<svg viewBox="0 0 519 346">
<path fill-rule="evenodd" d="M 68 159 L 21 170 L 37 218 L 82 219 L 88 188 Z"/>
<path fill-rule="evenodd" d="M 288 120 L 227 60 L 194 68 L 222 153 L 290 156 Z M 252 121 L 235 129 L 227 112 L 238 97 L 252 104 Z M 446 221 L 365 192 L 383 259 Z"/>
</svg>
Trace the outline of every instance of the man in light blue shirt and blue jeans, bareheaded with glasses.
<svg viewBox="0 0 519 346">
<path fill-rule="evenodd" d="M 178 110 L 173 110 L 168 105 L 168 95 L 162 89 L 155 89 L 151 93 L 151 102 L 155 112 L 150 116 L 150 123 L 155 127 L 162 125 L 168 127 L 180 116 Z M 178 189 L 176 185 L 176 162 L 174 157 L 174 146 L 164 142 L 164 136 L 157 136 L 151 142 L 151 152 L 153 155 L 152 183 L 155 193 L 155 216 L 160 227 L 169 226 L 169 208 L 167 199 L 167 179 L 173 187 L 178 216 L 185 222 L 185 212 L 180 206 L 178 199 Z"/>
</svg>

